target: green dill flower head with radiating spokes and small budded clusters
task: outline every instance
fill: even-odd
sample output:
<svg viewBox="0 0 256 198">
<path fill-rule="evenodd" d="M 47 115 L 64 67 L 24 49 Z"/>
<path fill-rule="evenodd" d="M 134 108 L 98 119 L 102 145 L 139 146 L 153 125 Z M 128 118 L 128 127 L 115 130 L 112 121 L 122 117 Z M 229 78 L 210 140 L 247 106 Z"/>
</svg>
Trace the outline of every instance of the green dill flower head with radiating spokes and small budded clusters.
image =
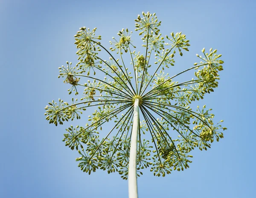
<svg viewBox="0 0 256 198">
<path fill-rule="evenodd" d="M 207 110 L 204 105 L 192 110 L 189 106 L 218 87 L 218 72 L 223 70 L 224 62 L 219 59 L 221 55 L 216 54 L 217 50 L 211 48 L 205 54 L 203 49 L 203 57 L 196 54 L 200 62 L 169 76 L 163 70 L 174 66 L 176 51 L 180 56 L 189 51 L 186 35 L 172 32 L 171 37 L 166 35 L 168 42 L 165 42 L 159 33 L 161 22 L 158 22 L 155 13 L 143 12 L 142 17 L 139 15 L 135 21 L 135 31 L 139 31 L 139 35 L 144 34 L 142 47 L 145 47 L 145 53 L 131 51 L 135 48 L 132 32 L 126 28 L 117 33 L 118 39 L 113 37 L 110 42 L 112 47 L 109 49 L 116 51 L 118 59 L 101 45 L 101 36 L 95 36 L 96 28 L 92 31 L 80 28 L 75 35 L 79 62 L 73 68 L 72 63 L 67 62 L 67 67 L 59 68 L 58 77 L 63 77 L 64 83 L 71 85 L 69 94 L 75 91 L 77 95 L 77 89 L 83 88 L 81 102 L 72 99 L 73 103 L 68 104 L 59 99 L 58 103 L 52 101 L 45 107 L 46 119 L 56 126 L 70 119 L 80 119 L 84 110 L 95 108 L 84 127 L 71 125 L 63 139 L 66 146 L 78 150 L 78 166 L 89 174 L 102 169 L 108 173 L 118 172 L 123 179 L 128 178 L 136 98 L 140 100 L 142 118 L 137 148 L 138 176 L 147 167 L 156 176 L 189 168 L 192 162 L 189 152 L 197 147 L 207 150 L 214 140 L 223 138 L 221 130 L 227 129 L 220 125 L 222 120 L 214 124 L 214 114 L 210 113 L 212 109 Z M 110 56 L 108 61 L 101 58 L 103 52 Z M 125 54 L 131 59 L 131 66 L 125 64 Z M 151 59 L 154 66 L 150 65 Z M 190 70 L 196 70 L 191 80 L 174 81 L 175 77 Z M 105 78 L 99 79 L 96 74 Z M 100 135 L 106 134 L 105 126 L 113 128 L 102 139 Z M 172 139 L 174 136 L 175 139 Z"/>
</svg>

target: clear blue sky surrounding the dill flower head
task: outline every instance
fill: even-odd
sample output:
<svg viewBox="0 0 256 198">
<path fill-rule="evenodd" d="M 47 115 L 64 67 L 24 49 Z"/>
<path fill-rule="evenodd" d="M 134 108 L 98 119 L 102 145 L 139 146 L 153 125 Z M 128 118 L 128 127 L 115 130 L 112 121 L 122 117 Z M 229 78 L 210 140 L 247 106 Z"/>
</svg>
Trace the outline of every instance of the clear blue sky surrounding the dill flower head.
<svg viewBox="0 0 256 198">
<path fill-rule="evenodd" d="M 0 0 L 0 198 L 128 197 L 119 174 L 88 175 L 77 167 L 79 154 L 62 142 L 71 123 L 48 124 L 44 107 L 52 99 L 71 101 L 58 67 L 77 61 L 73 35 L 80 27 L 97 27 L 108 47 L 122 28 L 134 30 L 142 11 L 157 13 L 163 35 L 182 31 L 190 40 L 169 74 L 197 62 L 204 47 L 222 54 L 219 87 L 200 104 L 228 130 L 211 149 L 193 152 L 188 170 L 164 178 L 144 170 L 140 198 L 256 197 L 255 10 L 253 0 Z M 72 124 L 83 125 L 85 118 Z"/>
</svg>

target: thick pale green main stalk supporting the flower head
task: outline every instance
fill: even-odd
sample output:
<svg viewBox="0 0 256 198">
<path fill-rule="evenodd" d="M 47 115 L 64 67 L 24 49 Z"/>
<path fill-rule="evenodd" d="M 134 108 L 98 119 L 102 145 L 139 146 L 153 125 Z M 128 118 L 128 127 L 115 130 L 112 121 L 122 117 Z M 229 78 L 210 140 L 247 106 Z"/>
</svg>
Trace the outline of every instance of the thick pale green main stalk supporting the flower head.
<svg viewBox="0 0 256 198">
<path fill-rule="evenodd" d="M 129 157 L 128 191 L 129 198 L 138 198 L 137 190 L 137 139 L 140 126 L 139 99 L 134 102 L 134 118 L 131 131 L 131 147 Z"/>
</svg>

